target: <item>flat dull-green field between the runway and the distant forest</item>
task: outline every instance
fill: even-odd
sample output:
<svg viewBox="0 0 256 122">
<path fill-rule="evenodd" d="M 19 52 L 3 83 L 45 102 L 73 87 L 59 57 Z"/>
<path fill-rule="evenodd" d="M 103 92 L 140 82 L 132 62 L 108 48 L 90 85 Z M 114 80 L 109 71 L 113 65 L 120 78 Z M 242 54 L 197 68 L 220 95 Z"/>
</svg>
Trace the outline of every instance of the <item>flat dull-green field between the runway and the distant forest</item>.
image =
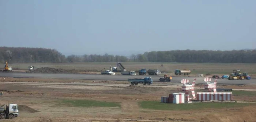
<svg viewBox="0 0 256 122">
<path fill-rule="evenodd" d="M 161 63 L 161 62 L 123 62 L 123 66 L 129 71 L 139 69 L 160 69 L 162 73 L 174 74 L 175 69 L 190 69 L 192 74 L 229 74 L 235 69 L 241 72 L 256 74 L 256 64 L 224 64 L 224 63 Z M 163 66 L 161 66 L 163 64 Z M 32 64 L 9 64 L 14 69 L 27 70 L 28 66 L 51 67 L 62 69 L 78 69 L 89 71 L 101 71 L 109 69 L 109 65 L 116 67 L 116 62 L 95 62 L 95 63 L 32 63 Z M 4 64 L 3 66 L 4 67 Z"/>
</svg>

